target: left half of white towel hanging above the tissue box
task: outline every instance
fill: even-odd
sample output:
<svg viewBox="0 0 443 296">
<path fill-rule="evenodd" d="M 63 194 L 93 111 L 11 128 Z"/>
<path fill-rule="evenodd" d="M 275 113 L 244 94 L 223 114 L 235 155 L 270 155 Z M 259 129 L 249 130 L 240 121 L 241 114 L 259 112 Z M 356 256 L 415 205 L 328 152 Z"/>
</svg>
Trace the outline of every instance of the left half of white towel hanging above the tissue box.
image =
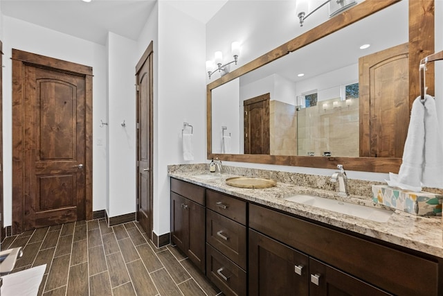
<svg viewBox="0 0 443 296">
<path fill-rule="evenodd" d="M 410 121 L 399 174 L 390 174 L 389 186 L 421 191 L 424 162 L 424 105 L 418 97 L 410 112 Z"/>
</svg>

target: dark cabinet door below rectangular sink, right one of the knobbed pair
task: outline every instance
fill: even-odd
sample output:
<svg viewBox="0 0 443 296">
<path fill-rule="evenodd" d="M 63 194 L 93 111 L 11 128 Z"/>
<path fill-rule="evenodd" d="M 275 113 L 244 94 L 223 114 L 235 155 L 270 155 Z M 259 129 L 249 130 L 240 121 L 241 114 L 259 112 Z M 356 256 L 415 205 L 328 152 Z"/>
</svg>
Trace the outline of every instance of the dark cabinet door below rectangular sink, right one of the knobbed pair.
<svg viewBox="0 0 443 296">
<path fill-rule="evenodd" d="M 325 263 L 309 258 L 310 296 L 391 295 Z"/>
</svg>

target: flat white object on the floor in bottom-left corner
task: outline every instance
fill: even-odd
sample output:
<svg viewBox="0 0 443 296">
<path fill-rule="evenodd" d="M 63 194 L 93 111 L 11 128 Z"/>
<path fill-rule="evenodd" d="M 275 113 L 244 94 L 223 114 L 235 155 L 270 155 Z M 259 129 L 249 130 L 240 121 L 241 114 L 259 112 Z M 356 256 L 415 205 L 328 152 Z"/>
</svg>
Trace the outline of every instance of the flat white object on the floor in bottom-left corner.
<svg viewBox="0 0 443 296">
<path fill-rule="evenodd" d="M 4 275 L 1 296 L 36 296 L 46 264 Z"/>
</svg>

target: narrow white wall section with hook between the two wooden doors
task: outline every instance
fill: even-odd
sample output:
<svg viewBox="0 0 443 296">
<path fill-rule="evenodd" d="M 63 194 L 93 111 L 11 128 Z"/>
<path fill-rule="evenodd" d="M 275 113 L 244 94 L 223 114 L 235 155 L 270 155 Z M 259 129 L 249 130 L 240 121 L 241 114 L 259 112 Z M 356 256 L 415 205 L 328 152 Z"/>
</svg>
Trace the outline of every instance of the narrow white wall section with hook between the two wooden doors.
<svg viewBox="0 0 443 296">
<path fill-rule="evenodd" d="M 109 208 L 115 217 L 136 211 L 136 88 L 137 43 L 108 33 L 107 92 Z M 125 122 L 125 127 L 122 126 Z"/>
</svg>

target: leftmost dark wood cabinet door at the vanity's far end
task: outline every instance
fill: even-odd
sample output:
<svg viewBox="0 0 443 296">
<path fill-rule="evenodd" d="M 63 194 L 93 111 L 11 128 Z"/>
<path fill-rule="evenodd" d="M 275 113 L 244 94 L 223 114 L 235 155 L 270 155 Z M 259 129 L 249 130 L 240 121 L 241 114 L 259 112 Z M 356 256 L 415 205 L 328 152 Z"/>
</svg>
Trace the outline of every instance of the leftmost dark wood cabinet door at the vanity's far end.
<svg viewBox="0 0 443 296">
<path fill-rule="evenodd" d="M 186 198 L 171 192 L 171 241 L 180 250 L 186 252 L 188 250 L 188 211 L 184 211 L 186 207 Z"/>
</svg>

